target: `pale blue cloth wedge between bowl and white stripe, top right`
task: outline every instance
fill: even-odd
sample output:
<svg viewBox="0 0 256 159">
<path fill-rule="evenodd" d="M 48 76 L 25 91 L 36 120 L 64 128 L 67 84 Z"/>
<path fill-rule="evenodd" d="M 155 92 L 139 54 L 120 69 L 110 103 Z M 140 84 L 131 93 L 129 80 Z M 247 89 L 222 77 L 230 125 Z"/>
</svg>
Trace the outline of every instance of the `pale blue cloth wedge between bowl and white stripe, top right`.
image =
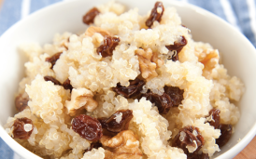
<svg viewBox="0 0 256 159">
<path fill-rule="evenodd" d="M 227 20 L 220 4 L 220 0 L 188 0 L 188 3 L 198 7 L 203 7 L 213 14 L 219 16 L 221 19 Z"/>
</svg>

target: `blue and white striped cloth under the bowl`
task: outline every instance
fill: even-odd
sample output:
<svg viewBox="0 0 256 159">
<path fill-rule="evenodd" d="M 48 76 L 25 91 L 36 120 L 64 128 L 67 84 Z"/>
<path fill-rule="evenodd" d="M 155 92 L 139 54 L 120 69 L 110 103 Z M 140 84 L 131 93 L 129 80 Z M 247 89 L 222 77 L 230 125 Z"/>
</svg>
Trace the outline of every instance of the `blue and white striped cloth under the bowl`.
<svg viewBox="0 0 256 159">
<path fill-rule="evenodd" d="M 62 0 L 4 0 L 0 10 L 0 35 L 18 20 Z M 256 46 L 256 0 L 180 0 L 203 7 L 234 25 Z M 0 138 L 0 158 L 21 159 Z"/>
</svg>

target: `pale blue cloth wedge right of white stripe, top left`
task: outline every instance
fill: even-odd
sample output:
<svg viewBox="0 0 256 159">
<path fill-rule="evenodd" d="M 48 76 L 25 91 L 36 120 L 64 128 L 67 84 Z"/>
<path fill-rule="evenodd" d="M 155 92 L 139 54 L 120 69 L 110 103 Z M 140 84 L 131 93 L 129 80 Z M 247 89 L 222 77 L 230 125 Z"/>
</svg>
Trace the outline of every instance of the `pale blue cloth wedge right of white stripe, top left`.
<svg viewBox="0 0 256 159">
<path fill-rule="evenodd" d="M 47 7 L 51 4 L 54 4 L 60 1 L 62 0 L 31 0 L 30 12 L 33 13 L 42 7 Z"/>
</svg>

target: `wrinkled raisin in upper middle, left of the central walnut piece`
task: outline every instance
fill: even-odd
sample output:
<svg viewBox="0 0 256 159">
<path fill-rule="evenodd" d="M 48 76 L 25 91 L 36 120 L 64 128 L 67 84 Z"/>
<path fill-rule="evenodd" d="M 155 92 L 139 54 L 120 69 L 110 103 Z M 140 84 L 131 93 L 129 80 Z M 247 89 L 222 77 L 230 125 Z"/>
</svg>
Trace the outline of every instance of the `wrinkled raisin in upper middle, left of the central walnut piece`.
<svg viewBox="0 0 256 159">
<path fill-rule="evenodd" d="M 119 45 L 119 42 L 119 37 L 106 35 L 104 37 L 104 44 L 97 48 L 97 53 L 101 54 L 103 58 L 112 56 L 113 50 Z"/>
</svg>

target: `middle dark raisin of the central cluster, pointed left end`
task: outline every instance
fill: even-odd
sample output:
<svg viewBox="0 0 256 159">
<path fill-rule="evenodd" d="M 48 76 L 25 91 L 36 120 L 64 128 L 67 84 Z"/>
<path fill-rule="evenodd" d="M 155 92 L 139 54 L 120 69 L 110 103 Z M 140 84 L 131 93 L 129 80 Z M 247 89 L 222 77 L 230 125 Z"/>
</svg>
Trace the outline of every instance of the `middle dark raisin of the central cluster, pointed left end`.
<svg viewBox="0 0 256 159">
<path fill-rule="evenodd" d="M 145 97 L 151 103 L 155 103 L 155 106 L 157 106 L 159 113 L 166 114 L 172 107 L 172 99 L 166 93 L 160 96 L 158 94 L 148 92 L 144 94 L 142 97 Z"/>
</svg>

